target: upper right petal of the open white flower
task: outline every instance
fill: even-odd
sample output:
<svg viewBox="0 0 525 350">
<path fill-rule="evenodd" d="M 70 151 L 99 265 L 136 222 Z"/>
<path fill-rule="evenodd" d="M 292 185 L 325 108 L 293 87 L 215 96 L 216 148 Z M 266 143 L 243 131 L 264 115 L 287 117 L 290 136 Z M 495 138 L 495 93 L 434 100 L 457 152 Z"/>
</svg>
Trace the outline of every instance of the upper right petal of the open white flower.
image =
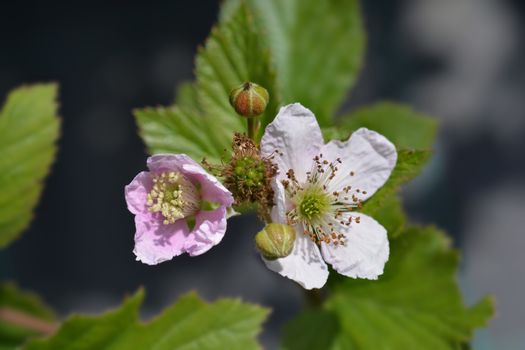
<svg viewBox="0 0 525 350">
<path fill-rule="evenodd" d="M 365 128 L 354 132 L 346 142 L 330 141 L 321 153 L 330 161 L 337 158 L 342 161 L 342 164 L 337 164 L 337 174 L 328 189 L 341 191 L 343 187 L 351 186 L 350 195 L 355 194 L 363 201 L 385 184 L 397 161 L 396 147 L 392 142 Z"/>
</svg>

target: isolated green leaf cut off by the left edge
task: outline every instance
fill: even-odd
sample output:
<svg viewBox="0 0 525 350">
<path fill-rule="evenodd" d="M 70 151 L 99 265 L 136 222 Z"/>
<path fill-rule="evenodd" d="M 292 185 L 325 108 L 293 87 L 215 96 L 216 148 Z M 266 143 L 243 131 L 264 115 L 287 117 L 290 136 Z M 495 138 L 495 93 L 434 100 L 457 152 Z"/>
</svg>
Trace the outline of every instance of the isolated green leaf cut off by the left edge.
<svg viewBox="0 0 525 350">
<path fill-rule="evenodd" d="M 0 247 L 27 228 L 56 154 L 57 85 L 12 91 L 0 111 Z"/>
</svg>

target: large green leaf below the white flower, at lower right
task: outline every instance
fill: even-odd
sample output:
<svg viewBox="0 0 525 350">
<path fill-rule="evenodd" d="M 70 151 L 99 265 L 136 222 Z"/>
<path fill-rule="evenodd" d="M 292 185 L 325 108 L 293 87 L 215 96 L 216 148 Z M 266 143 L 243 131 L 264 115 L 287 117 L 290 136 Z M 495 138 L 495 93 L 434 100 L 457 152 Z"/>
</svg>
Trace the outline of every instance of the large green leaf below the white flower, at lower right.
<svg viewBox="0 0 525 350">
<path fill-rule="evenodd" d="M 322 339 L 323 349 L 457 349 L 486 325 L 492 301 L 464 306 L 455 276 L 458 254 L 444 234 L 413 227 L 391 241 L 390 251 L 377 281 L 332 274 L 331 296 L 321 310 L 286 327 L 285 348 L 316 349 L 310 344 Z"/>
</svg>

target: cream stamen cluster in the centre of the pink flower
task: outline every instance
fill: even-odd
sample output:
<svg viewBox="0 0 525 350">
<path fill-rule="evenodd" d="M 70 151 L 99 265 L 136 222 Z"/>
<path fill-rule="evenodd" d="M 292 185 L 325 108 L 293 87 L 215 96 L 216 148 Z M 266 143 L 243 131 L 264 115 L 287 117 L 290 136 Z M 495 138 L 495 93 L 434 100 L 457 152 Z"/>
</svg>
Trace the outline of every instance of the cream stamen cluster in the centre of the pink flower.
<svg viewBox="0 0 525 350">
<path fill-rule="evenodd" d="M 152 213 L 160 213 L 165 225 L 192 216 L 200 205 L 199 191 L 184 175 L 170 171 L 152 175 L 153 188 L 146 205 Z"/>
</svg>

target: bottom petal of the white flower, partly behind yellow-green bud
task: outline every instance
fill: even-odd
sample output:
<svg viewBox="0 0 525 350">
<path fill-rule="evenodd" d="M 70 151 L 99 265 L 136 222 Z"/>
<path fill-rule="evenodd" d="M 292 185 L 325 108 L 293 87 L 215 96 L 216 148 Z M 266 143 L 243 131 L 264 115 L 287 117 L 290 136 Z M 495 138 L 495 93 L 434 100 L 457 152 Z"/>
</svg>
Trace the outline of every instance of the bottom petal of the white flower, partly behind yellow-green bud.
<svg viewBox="0 0 525 350">
<path fill-rule="evenodd" d="M 285 258 L 266 260 L 266 266 L 281 276 L 288 277 L 305 289 L 321 288 L 328 279 L 328 267 L 323 261 L 317 245 L 297 229 L 295 245 Z"/>
</svg>

